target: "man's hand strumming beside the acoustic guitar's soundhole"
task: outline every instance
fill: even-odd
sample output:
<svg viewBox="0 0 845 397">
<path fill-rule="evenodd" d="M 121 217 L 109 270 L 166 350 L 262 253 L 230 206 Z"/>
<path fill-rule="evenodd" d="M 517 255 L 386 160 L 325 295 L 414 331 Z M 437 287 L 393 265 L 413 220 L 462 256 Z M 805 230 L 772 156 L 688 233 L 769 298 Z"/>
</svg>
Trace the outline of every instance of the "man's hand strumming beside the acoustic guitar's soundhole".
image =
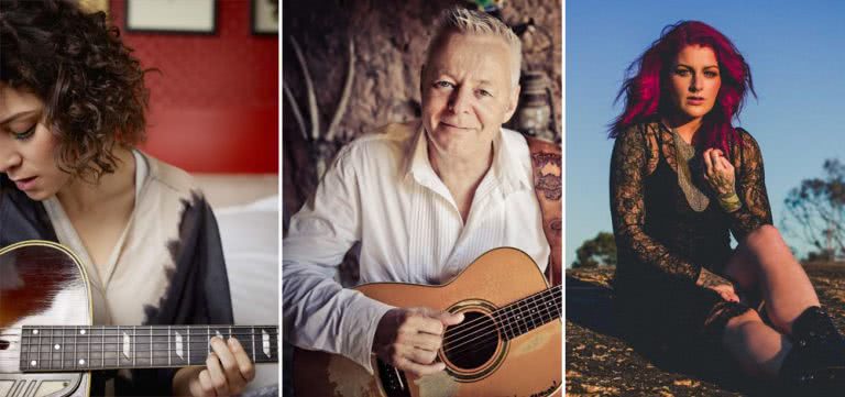
<svg viewBox="0 0 845 397">
<path fill-rule="evenodd" d="M 443 331 L 461 321 L 461 313 L 429 308 L 392 309 L 378 321 L 373 352 L 387 364 L 417 376 L 443 371 L 446 364 L 435 363 Z"/>
</svg>

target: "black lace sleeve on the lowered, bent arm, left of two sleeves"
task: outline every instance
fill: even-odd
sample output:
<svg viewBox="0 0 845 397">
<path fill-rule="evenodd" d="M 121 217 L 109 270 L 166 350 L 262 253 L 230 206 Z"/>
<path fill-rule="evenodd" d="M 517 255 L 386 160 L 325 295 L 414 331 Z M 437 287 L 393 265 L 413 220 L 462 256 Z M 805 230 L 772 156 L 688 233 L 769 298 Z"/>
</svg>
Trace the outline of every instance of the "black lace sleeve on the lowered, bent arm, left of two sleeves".
<svg viewBox="0 0 845 397">
<path fill-rule="evenodd" d="M 616 137 L 611 158 L 611 217 L 618 252 L 674 278 L 694 283 L 701 266 L 672 254 L 644 231 L 647 175 L 646 136 L 630 129 Z M 619 265 L 624 265 L 619 263 Z"/>
</svg>

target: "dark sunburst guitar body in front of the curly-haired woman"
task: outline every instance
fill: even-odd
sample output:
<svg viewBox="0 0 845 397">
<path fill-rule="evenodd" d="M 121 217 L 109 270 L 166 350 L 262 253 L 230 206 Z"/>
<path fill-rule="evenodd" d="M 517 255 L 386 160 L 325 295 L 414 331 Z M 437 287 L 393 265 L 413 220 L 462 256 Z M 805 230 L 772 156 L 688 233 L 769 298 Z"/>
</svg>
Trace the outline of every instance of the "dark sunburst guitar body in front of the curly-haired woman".
<svg viewBox="0 0 845 397">
<path fill-rule="evenodd" d="M 0 250 L 0 396 L 87 396 L 90 373 L 20 374 L 18 360 L 3 353 L 20 352 L 7 337 L 23 326 L 90 326 L 91 311 L 88 278 L 73 252 L 46 241 Z"/>
</svg>

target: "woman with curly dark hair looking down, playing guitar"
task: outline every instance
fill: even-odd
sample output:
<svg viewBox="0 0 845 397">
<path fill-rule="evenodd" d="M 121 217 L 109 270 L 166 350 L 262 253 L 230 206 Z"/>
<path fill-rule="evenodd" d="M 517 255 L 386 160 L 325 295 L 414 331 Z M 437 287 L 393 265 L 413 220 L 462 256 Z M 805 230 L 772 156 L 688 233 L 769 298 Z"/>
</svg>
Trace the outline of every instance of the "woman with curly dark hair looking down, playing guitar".
<svg viewBox="0 0 845 397">
<path fill-rule="evenodd" d="M 95 324 L 227 324 L 213 213 L 187 173 L 136 148 L 145 70 L 106 14 L 69 1 L 0 1 L 0 246 L 69 246 Z M 254 367 L 212 340 L 206 367 L 95 377 L 94 394 L 229 395 Z"/>
</svg>

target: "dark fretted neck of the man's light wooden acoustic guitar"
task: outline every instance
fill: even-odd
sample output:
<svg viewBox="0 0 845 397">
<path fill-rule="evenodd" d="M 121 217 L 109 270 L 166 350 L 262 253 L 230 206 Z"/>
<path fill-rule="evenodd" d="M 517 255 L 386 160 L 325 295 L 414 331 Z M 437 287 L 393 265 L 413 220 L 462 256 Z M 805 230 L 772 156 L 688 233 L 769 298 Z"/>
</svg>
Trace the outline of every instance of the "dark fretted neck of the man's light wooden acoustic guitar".
<svg viewBox="0 0 845 397">
<path fill-rule="evenodd" d="M 558 285 L 544 289 L 493 312 L 502 338 L 511 340 L 559 319 L 563 306 L 561 288 Z"/>
</svg>

